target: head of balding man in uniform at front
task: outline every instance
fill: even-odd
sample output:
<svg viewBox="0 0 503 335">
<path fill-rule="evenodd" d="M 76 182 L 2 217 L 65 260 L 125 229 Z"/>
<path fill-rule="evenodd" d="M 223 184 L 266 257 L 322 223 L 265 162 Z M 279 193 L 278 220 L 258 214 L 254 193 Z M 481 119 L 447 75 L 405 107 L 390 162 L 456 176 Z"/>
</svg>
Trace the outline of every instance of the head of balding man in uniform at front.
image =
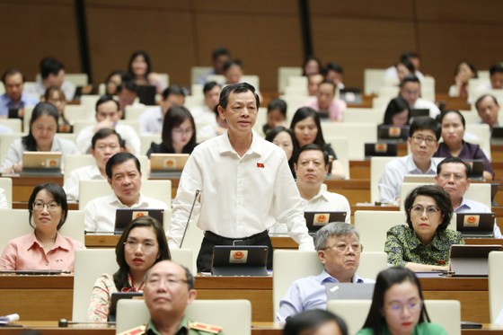
<svg viewBox="0 0 503 335">
<path fill-rule="evenodd" d="M 180 265 L 163 260 L 150 269 L 143 294 L 151 315 L 171 316 L 183 314 L 197 292 L 189 289 L 187 274 Z"/>
</svg>

